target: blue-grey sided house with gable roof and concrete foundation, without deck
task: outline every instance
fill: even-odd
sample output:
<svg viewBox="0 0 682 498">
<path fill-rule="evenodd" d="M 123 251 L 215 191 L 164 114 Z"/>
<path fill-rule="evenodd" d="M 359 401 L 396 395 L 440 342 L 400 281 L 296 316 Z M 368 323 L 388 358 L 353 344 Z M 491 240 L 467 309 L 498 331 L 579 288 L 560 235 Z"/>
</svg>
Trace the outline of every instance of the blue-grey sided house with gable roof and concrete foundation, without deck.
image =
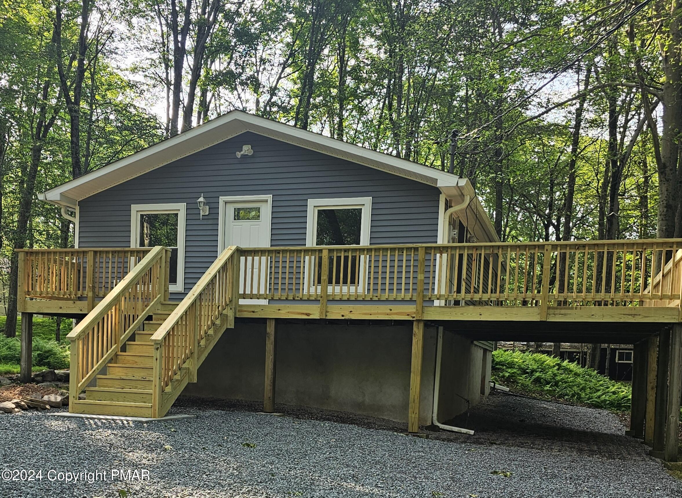
<svg viewBox="0 0 682 498">
<path fill-rule="evenodd" d="M 53 188 L 42 199 L 75 211 L 78 249 L 170 248 L 170 302 L 186 297 L 228 246 L 496 240 L 468 180 L 239 111 Z M 444 220 L 455 205 L 462 209 Z M 348 257 L 337 259 L 339 268 L 348 263 Z M 250 282 L 244 285 L 242 291 L 250 290 Z M 342 301 L 329 305 L 336 302 Z M 406 421 L 412 332 L 402 321 L 282 323 L 276 398 Z M 438 334 L 437 327 L 424 332 L 420 424 L 432 422 Z M 439 417 L 447 420 L 466 400 L 474 405 L 488 392 L 492 342 L 441 335 L 438 354 L 447 368 L 439 383 Z M 264 355 L 265 320 L 237 319 L 184 392 L 263 399 Z M 102 381 L 115 385 L 112 379 L 98 385 Z"/>
</svg>

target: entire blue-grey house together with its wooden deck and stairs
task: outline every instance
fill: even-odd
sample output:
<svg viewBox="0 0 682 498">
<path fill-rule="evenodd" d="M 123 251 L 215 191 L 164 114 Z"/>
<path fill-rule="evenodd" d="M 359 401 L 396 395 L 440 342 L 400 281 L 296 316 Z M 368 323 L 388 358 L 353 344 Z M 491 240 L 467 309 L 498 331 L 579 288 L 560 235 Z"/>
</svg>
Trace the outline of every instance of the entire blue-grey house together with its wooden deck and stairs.
<svg viewBox="0 0 682 498">
<path fill-rule="evenodd" d="M 41 199 L 77 247 L 19 251 L 23 371 L 32 313 L 82 317 L 70 411 L 158 418 L 184 392 L 415 433 L 488 393 L 494 340 L 623 343 L 633 435 L 677 458 L 651 393 L 682 383 L 655 354 L 682 351 L 682 239 L 501 242 L 467 179 L 239 111 Z"/>
</svg>

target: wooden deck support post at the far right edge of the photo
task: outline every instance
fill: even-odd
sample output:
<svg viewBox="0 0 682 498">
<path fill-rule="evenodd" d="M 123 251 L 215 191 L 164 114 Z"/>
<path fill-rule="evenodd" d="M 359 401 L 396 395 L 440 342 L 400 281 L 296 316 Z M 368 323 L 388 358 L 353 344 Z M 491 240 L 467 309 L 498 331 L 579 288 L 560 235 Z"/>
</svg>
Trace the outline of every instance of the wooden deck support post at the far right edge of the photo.
<svg viewBox="0 0 682 498">
<path fill-rule="evenodd" d="M 682 391 L 682 324 L 672 325 L 668 353 L 668 407 L 663 459 L 677 462 L 679 448 L 680 393 Z"/>
</svg>

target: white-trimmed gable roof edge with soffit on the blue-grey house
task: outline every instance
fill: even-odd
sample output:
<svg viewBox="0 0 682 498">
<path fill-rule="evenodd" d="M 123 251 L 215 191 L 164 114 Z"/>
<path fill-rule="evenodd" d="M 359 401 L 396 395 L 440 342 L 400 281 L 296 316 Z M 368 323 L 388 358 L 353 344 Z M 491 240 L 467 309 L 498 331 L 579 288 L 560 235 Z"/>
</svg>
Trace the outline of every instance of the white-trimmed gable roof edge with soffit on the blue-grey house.
<svg viewBox="0 0 682 498">
<path fill-rule="evenodd" d="M 102 190 L 249 131 L 434 186 L 448 199 L 464 199 L 465 195 L 470 195 L 471 199 L 475 200 L 471 204 L 476 207 L 477 217 L 480 218 L 482 214 L 484 224 L 490 226 L 490 220 L 466 178 L 243 111 L 230 111 L 191 130 L 50 188 L 38 197 L 48 203 L 76 207 L 78 201 Z"/>
</svg>

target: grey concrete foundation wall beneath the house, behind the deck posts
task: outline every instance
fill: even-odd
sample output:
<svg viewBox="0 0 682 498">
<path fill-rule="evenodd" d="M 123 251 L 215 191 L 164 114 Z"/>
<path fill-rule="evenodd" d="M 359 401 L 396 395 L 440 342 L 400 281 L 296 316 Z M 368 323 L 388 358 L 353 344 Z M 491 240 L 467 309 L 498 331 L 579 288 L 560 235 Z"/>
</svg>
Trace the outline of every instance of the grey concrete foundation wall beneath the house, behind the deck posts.
<svg viewBox="0 0 682 498">
<path fill-rule="evenodd" d="M 445 408 L 441 408 L 445 415 L 466 409 L 466 404 L 454 401 L 456 396 L 452 393 L 463 389 L 462 396 L 473 397 L 471 383 L 475 378 L 478 392 L 481 371 L 481 355 L 477 354 L 481 348 L 463 338 L 449 340 L 449 347 L 448 358 L 452 361 L 448 360 L 449 373 L 441 383 L 441 389 L 445 387 L 447 392 Z M 278 323 L 275 400 L 406 422 L 411 348 L 411 324 L 367 327 Z M 426 327 L 419 403 L 421 425 L 431 423 L 435 357 L 436 329 Z M 469 372 L 463 364 L 471 358 L 471 368 L 478 373 Z M 265 323 L 238 321 L 235 329 L 226 330 L 199 368 L 198 382 L 189 384 L 183 394 L 262 401 L 264 366 Z M 464 384 L 462 379 L 457 380 L 462 372 L 468 375 Z"/>
</svg>

